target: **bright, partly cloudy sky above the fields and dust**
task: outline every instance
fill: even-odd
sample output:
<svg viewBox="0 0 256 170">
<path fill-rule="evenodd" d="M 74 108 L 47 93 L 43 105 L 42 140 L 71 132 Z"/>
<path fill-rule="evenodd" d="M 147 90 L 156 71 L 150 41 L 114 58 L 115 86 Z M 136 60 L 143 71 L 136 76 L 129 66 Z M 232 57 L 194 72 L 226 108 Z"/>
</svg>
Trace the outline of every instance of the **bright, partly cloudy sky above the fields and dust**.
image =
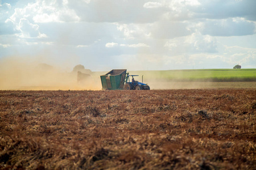
<svg viewBox="0 0 256 170">
<path fill-rule="evenodd" d="M 0 62 L 256 68 L 255 0 L 0 0 Z"/>
</svg>

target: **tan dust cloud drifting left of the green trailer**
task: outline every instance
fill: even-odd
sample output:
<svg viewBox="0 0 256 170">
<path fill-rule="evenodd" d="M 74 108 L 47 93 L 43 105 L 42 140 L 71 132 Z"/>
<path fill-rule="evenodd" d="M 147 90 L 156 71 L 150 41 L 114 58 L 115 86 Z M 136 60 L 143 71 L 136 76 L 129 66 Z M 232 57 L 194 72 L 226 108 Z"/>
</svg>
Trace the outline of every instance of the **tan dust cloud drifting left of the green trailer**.
<svg viewBox="0 0 256 170">
<path fill-rule="evenodd" d="M 101 90 L 101 82 L 93 72 L 78 81 L 77 70 L 10 57 L 0 60 L 0 90 Z"/>
</svg>

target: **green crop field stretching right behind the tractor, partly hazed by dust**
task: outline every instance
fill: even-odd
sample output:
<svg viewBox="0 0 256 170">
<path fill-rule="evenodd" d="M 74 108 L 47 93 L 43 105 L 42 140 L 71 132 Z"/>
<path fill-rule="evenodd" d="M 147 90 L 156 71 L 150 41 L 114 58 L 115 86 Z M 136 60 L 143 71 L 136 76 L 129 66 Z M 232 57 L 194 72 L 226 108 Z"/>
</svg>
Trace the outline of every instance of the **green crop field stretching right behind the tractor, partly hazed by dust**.
<svg viewBox="0 0 256 170">
<path fill-rule="evenodd" d="M 166 71 L 129 71 L 144 75 L 144 80 L 176 82 L 256 82 L 256 69 L 201 69 Z M 141 80 L 141 77 L 139 77 Z"/>
</svg>

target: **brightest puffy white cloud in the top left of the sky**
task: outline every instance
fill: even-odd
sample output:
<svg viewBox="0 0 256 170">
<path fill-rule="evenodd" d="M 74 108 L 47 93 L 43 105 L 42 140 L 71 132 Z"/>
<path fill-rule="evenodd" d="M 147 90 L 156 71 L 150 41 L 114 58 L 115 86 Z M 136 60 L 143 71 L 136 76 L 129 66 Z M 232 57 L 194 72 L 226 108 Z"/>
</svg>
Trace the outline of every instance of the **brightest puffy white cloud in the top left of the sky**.
<svg viewBox="0 0 256 170">
<path fill-rule="evenodd" d="M 8 29 L 9 32 L 20 32 L 20 37 L 47 37 L 46 33 L 40 32 L 38 23 L 78 22 L 80 20 L 68 4 L 68 0 L 36 0 L 27 3 L 23 8 L 15 8 L 13 15 L 5 20 L 5 27 L 7 24 L 9 28 L 13 27 L 12 32 L 12 29 Z"/>
</svg>

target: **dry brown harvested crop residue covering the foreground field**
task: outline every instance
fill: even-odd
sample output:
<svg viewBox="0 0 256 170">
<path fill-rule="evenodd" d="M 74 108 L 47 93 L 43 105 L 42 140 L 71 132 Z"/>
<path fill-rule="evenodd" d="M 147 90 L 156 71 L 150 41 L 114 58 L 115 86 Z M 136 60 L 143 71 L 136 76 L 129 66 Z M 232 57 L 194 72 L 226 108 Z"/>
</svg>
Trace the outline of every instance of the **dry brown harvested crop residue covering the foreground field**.
<svg viewBox="0 0 256 170">
<path fill-rule="evenodd" d="M 256 169 L 255 96 L 0 91 L 0 169 Z"/>
</svg>

